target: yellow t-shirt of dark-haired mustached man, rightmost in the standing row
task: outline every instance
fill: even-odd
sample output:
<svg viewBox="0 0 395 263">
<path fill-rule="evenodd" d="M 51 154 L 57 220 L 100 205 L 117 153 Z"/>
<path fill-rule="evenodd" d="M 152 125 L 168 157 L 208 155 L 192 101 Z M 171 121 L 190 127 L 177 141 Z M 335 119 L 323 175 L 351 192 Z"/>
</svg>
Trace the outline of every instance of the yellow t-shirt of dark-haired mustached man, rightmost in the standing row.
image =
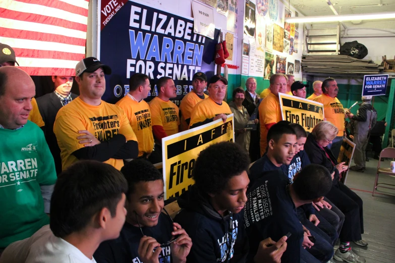
<svg viewBox="0 0 395 263">
<path fill-rule="evenodd" d="M 324 115 L 327 121 L 335 125 L 339 132 L 337 136 L 344 135 L 344 108 L 343 104 L 337 98 L 329 97 L 328 95 L 319 95 L 314 101 L 324 104 Z"/>
</svg>

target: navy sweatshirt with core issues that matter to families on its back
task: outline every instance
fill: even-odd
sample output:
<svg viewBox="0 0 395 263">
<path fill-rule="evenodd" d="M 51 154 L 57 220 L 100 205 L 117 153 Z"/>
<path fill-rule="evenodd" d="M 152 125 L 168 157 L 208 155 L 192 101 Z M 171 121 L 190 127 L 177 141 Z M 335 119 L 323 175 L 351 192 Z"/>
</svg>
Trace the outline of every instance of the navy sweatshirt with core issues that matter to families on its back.
<svg viewBox="0 0 395 263">
<path fill-rule="evenodd" d="M 303 228 L 287 191 L 288 182 L 281 178 L 281 173 L 278 169 L 261 173 L 247 192 L 244 225 L 249 239 L 250 260 L 256 254 L 260 241 L 270 237 L 276 242 L 291 232 L 281 262 L 300 261 Z"/>
</svg>

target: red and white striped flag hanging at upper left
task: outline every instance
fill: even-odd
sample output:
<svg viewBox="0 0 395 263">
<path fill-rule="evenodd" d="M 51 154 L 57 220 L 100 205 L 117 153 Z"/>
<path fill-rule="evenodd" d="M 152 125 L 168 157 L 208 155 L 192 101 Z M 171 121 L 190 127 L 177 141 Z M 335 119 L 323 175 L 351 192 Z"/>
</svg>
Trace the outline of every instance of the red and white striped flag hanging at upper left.
<svg viewBox="0 0 395 263">
<path fill-rule="evenodd" d="M 89 0 L 0 0 L 0 43 L 34 76 L 75 76 L 85 57 Z"/>
</svg>

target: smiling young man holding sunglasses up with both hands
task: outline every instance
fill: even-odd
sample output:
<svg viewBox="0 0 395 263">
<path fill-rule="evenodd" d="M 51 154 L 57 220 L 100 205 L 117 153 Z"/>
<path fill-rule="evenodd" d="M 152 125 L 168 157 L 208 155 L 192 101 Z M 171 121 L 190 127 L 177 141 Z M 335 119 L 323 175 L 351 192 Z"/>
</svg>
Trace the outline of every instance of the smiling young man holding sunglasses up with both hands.
<svg viewBox="0 0 395 263">
<path fill-rule="evenodd" d="M 120 237 L 96 250 L 97 263 L 186 262 L 192 241 L 163 209 L 163 176 L 142 159 L 127 163 L 121 172 L 129 186 L 128 215 Z"/>
</svg>

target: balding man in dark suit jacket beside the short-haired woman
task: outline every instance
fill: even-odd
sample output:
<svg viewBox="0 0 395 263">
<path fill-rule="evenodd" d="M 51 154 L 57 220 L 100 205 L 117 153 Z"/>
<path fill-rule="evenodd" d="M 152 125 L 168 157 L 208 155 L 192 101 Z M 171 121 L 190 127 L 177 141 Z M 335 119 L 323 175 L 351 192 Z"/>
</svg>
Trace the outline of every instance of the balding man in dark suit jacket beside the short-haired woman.
<svg viewBox="0 0 395 263">
<path fill-rule="evenodd" d="M 254 78 L 248 78 L 246 81 L 246 96 L 243 101 L 243 106 L 246 107 L 248 114 L 252 116 L 256 107 L 259 104 L 259 95 L 255 92 L 256 90 L 256 80 Z M 259 116 L 255 116 L 256 119 L 259 119 Z M 251 130 L 250 137 L 250 158 L 251 161 L 254 162 L 260 158 L 260 148 L 259 148 L 259 125 L 256 130 Z"/>
</svg>

